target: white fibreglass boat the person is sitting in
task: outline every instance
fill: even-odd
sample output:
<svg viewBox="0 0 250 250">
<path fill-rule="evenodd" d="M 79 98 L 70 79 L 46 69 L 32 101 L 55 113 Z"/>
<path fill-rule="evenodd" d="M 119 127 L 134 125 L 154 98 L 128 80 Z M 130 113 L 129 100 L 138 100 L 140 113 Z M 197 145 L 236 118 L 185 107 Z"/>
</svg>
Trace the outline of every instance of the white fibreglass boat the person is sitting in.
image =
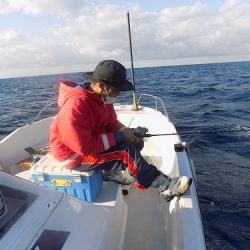
<svg viewBox="0 0 250 250">
<path fill-rule="evenodd" d="M 130 106 L 119 105 L 116 106 L 116 112 L 119 120 L 128 127 L 144 126 L 149 129 L 150 134 L 176 133 L 169 119 L 153 109 L 143 108 L 140 111 L 132 111 Z M 11 174 L 20 172 L 19 176 L 31 180 L 29 171 L 23 171 L 17 163 L 28 157 L 28 153 L 24 150 L 26 147 L 39 150 L 48 146 L 49 126 L 52 119 L 47 118 L 26 125 L 0 142 L 2 170 Z M 165 174 L 187 175 L 194 178 L 192 162 L 186 150 L 175 152 L 176 143 L 181 143 L 178 135 L 145 138 L 145 146 L 141 153 L 149 163 L 157 166 Z M 0 175 L 0 180 L 2 178 L 7 177 Z M 13 178 L 10 178 L 12 182 L 14 182 Z M 29 185 L 37 187 L 32 183 Z M 30 241 L 34 243 L 39 232 L 44 228 L 53 230 L 61 228 L 71 232 L 62 249 L 201 250 L 206 248 L 195 184 L 184 196 L 175 198 L 170 203 L 165 202 L 151 189 L 140 192 L 132 186 L 128 195 L 123 196 L 119 185 L 111 183 L 105 185 L 95 204 L 85 203 L 60 193 L 62 198 L 51 211 L 50 218 L 36 229 L 37 235 L 30 236 Z M 114 188 L 110 188 L 109 185 L 114 185 Z M 33 188 L 30 187 L 30 189 L 33 191 Z M 44 190 L 40 187 L 37 189 Z M 114 189 L 116 191 L 112 193 L 110 190 L 114 191 Z M 55 195 L 58 193 L 50 192 Z M 78 211 L 76 207 L 72 207 L 70 205 L 72 202 L 78 204 L 76 207 L 81 209 Z M 69 214 L 72 215 L 72 219 Z M 81 219 L 78 220 L 77 218 L 80 217 Z M 33 225 L 32 221 L 30 225 Z M 0 249 L 4 249 L 3 244 L 8 243 L 8 238 L 3 239 Z M 93 243 L 95 241 L 96 244 Z"/>
</svg>

